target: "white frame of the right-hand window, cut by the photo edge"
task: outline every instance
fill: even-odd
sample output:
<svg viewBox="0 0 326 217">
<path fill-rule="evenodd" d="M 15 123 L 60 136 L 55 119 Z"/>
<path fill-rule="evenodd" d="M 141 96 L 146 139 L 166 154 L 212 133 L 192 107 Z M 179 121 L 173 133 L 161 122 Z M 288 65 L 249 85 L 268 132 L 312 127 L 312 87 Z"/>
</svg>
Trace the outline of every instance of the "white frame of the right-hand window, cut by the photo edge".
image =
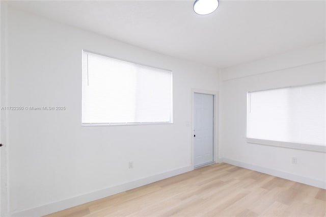
<svg viewBox="0 0 326 217">
<path fill-rule="evenodd" d="M 280 88 L 270 88 L 270 89 L 257 90 L 257 91 L 247 91 L 247 110 L 246 110 L 246 115 L 247 115 L 246 141 L 247 141 L 247 143 L 325 153 L 326 146 L 312 145 L 312 144 L 305 144 L 305 143 L 291 143 L 291 142 L 274 141 L 274 140 L 263 140 L 263 139 L 255 139 L 255 138 L 248 137 L 248 123 L 249 123 L 249 112 L 248 111 L 250 110 L 250 108 L 249 108 L 250 93 L 269 91 L 269 90 L 286 89 L 286 88 L 304 87 L 304 86 L 319 85 L 319 84 L 326 84 L 326 82 L 317 82 L 317 83 L 311 83 L 311 84 L 305 84 L 305 85 L 295 85 L 295 86 L 287 86 L 287 87 L 280 87 Z"/>
</svg>

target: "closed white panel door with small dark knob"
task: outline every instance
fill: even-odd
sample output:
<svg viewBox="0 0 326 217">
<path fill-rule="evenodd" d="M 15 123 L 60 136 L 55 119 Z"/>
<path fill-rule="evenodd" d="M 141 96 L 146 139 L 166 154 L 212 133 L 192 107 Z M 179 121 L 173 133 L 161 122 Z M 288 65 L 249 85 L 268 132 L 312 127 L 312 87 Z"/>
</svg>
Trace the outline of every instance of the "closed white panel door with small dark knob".
<svg viewBox="0 0 326 217">
<path fill-rule="evenodd" d="M 214 96 L 194 95 L 194 165 L 213 162 Z"/>
</svg>

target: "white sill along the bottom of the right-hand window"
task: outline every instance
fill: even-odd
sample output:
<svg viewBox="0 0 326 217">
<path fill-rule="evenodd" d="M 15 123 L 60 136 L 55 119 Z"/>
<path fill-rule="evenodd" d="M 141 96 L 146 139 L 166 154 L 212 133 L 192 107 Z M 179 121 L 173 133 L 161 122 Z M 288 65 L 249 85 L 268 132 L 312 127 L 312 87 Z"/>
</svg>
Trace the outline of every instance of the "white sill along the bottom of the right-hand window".
<svg viewBox="0 0 326 217">
<path fill-rule="evenodd" d="M 247 143 L 299 149 L 299 150 L 306 150 L 306 151 L 326 152 L 326 146 L 319 146 L 319 145 L 289 143 L 289 142 L 280 142 L 280 141 L 272 141 L 272 140 L 260 140 L 260 139 L 253 139 L 253 138 L 247 138 Z"/>
</svg>

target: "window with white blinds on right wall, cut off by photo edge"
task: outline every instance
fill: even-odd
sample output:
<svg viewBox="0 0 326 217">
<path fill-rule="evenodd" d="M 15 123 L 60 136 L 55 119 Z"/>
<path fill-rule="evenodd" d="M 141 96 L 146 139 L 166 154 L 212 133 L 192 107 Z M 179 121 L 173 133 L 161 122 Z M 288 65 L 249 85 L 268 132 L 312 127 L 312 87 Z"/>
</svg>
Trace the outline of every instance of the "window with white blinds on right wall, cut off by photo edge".
<svg viewBox="0 0 326 217">
<path fill-rule="evenodd" d="M 325 152 L 325 83 L 248 93 L 247 141 Z"/>
</svg>

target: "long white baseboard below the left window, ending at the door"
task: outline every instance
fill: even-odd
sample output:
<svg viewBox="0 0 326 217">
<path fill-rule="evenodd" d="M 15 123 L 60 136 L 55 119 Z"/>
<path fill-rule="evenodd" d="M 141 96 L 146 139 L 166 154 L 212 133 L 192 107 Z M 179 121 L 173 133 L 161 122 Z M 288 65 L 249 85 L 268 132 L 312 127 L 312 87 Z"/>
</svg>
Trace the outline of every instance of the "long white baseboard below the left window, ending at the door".
<svg viewBox="0 0 326 217">
<path fill-rule="evenodd" d="M 15 213 L 12 213 L 11 216 L 27 217 L 27 216 L 41 216 L 41 215 L 50 214 L 53 212 L 57 212 L 57 211 L 67 209 L 67 208 L 70 208 L 73 206 L 77 206 L 77 205 L 80 205 L 83 203 L 87 203 L 90 201 L 98 200 L 98 199 L 101 199 L 104 197 L 108 197 L 110 195 L 124 192 L 124 191 L 127 191 L 127 190 L 135 188 L 135 187 L 143 186 L 143 185 L 146 185 L 146 184 L 158 181 L 158 180 L 176 176 L 176 175 L 179 175 L 179 174 L 182 174 L 182 173 L 185 173 L 188 171 L 192 171 L 192 170 L 193 170 L 192 166 L 179 168 L 179 169 L 168 171 L 165 173 L 156 174 L 156 175 L 153 175 L 150 177 L 126 182 L 126 183 L 116 185 L 113 187 L 104 188 L 104 189 L 101 189 L 96 192 L 91 192 L 88 194 L 76 196 L 76 197 L 65 199 L 62 201 L 57 201 L 54 203 L 46 204 L 46 205 L 35 207 L 32 209 L 15 212 Z"/>
</svg>

